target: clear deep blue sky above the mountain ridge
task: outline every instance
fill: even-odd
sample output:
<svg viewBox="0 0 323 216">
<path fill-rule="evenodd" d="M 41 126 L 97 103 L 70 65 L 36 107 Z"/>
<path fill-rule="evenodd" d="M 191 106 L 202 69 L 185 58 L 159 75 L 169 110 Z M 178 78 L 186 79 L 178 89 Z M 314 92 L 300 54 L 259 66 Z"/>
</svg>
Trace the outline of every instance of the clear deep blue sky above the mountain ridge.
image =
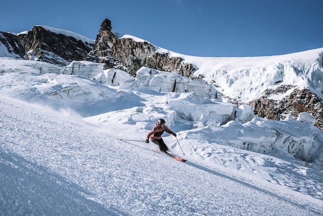
<svg viewBox="0 0 323 216">
<path fill-rule="evenodd" d="M 95 39 L 107 18 L 177 53 L 272 56 L 322 48 L 322 9 L 322 0 L 18 0 L 1 3 L 0 31 L 46 25 Z"/>
</svg>

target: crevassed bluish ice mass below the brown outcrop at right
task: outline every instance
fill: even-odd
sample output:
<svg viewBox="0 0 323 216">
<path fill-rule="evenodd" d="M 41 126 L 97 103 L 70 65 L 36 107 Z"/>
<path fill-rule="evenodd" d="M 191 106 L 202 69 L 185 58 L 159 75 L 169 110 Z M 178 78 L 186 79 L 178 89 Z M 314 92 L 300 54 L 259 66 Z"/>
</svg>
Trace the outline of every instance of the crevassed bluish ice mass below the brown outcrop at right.
<svg viewBox="0 0 323 216">
<path fill-rule="evenodd" d="M 255 117 L 244 124 L 230 121 L 224 127 L 216 127 L 214 131 L 210 131 L 219 134 L 214 142 L 224 142 L 234 148 L 261 154 L 275 155 L 283 150 L 286 152 L 284 154 L 296 158 L 297 163 L 321 169 L 323 154 L 319 150 L 320 141 L 315 140 L 320 139 L 315 135 L 315 131 L 319 129 L 313 126 L 300 128 L 300 125 L 292 118 L 276 122 Z"/>
</svg>

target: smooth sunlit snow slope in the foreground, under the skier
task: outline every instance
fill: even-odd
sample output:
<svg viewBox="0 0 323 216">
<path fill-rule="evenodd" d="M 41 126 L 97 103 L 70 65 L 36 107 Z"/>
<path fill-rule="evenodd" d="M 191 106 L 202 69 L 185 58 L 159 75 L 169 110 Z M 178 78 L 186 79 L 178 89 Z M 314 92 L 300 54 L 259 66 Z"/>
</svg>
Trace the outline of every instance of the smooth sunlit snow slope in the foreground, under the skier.
<svg viewBox="0 0 323 216">
<path fill-rule="evenodd" d="M 0 97 L 0 110 L 4 215 L 321 215 L 323 210 L 320 199 L 240 180 L 225 167 L 181 163 L 35 105 Z"/>
</svg>

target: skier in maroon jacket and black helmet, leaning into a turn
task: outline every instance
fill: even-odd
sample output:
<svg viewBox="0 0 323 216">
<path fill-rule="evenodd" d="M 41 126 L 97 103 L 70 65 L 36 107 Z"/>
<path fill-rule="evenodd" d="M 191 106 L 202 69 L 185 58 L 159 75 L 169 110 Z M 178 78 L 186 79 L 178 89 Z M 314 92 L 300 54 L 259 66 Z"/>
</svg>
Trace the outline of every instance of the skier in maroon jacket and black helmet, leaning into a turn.
<svg viewBox="0 0 323 216">
<path fill-rule="evenodd" d="M 163 135 L 164 131 L 176 137 L 176 134 L 172 132 L 167 126 L 165 126 L 165 120 L 160 118 L 156 125 L 154 125 L 151 131 L 147 134 L 147 138 L 145 140 L 146 143 L 149 143 L 149 139 L 151 142 L 159 146 L 161 152 L 167 153 L 169 150 L 167 145 L 164 143 L 161 135 Z"/>
</svg>

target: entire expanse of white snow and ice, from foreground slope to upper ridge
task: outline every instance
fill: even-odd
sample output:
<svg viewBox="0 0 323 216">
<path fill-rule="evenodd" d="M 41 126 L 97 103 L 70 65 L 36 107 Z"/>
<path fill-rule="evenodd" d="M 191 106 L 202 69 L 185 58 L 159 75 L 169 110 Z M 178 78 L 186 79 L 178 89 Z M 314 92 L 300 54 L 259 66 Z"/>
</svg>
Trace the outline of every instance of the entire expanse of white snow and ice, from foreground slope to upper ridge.
<svg viewBox="0 0 323 216">
<path fill-rule="evenodd" d="M 312 116 L 263 119 L 220 94 L 247 101 L 293 84 L 323 98 L 322 52 L 183 56 L 218 85 L 0 58 L 0 215 L 322 215 L 323 132 Z M 159 118 L 186 163 L 144 142 Z"/>
</svg>

